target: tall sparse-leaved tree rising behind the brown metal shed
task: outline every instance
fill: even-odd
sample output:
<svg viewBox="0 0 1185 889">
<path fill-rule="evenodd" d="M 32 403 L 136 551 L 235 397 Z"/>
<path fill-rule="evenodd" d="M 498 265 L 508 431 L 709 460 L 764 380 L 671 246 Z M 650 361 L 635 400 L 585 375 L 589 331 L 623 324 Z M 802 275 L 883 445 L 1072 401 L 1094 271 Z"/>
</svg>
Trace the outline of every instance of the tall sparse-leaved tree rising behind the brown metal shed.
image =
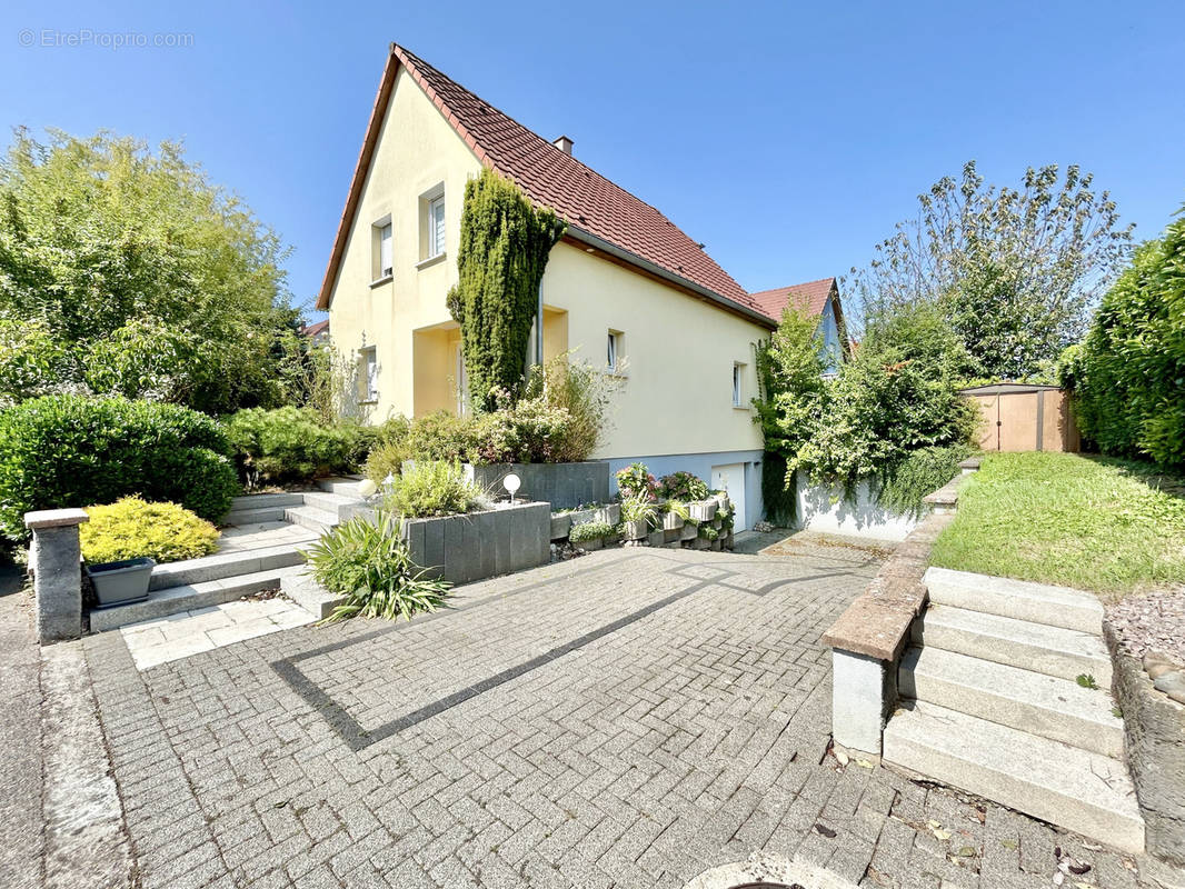
<svg viewBox="0 0 1185 889">
<path fill-rule="evenodd" d="M 933 305 L 962 339 L 972 376 L 1020 379 L 1081 339 L 1130 250 L 1108 192 L 1069 166 L 1025 171 L 1019 190 L 984 185 L 975 161 L 918 196 L 852 289 L 867 319 Z"/>
</svg>

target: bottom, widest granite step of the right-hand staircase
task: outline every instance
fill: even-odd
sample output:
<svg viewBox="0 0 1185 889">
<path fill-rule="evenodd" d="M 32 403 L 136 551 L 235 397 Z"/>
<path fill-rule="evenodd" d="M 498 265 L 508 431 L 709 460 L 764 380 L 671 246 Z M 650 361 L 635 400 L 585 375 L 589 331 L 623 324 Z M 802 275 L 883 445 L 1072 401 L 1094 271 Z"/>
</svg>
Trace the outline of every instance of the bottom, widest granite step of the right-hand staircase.
<svg viewBox="0 0 1185 889">
<path fill-rule="evenodd" d="M 1144 851 L 1144 819 L 1120 760 L 918 701 L 889 719 L 884 761 L 1121 851 Z"/>
</svg>

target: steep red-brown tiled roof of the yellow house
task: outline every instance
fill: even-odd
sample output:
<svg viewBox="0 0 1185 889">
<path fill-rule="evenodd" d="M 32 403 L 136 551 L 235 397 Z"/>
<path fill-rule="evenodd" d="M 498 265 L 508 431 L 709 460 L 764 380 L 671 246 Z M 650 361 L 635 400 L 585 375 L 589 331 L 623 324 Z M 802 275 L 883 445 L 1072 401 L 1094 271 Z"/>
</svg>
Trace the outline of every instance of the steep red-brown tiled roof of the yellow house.
<svg viewBox="0 0 1185 889">
<path fill-rule="evenodd" d="M 351 196 L 338 231 L 338 243 L 326 270 L 318 308 L 328 305 L 337 263 L 345 248 L 345 237 L 365 180 L 365 168 L 373 154 L 377 132 L 395 82 L 396 63 L 406 68 L 408 73 L 482 164 L 513 179 L 536 203 L 552 207 L 569 223 L 570 229 L 609 242 L 696 287 L 739 303 L 745 309 L 768 314 L 699 244 L 653 206 L 559 151 L 396 44 L 391 44 L 391 59 L 371 114 L 367 140 L 354 171 Z"/>
</svg>

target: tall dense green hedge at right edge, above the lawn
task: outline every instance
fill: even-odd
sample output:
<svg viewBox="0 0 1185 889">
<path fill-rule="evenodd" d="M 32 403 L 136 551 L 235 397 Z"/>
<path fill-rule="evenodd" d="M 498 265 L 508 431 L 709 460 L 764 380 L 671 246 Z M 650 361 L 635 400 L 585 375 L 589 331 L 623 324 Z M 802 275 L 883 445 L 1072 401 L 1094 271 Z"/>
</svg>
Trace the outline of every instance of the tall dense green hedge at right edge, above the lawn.
<svg viewBox="0 0 1185 889">
<path fill-rule="evenodd" d="M 1185 467 L 1185 207 L 1139 248 L 1063 360 L 1082 434 L 1104 454 Z"/>
</svg>

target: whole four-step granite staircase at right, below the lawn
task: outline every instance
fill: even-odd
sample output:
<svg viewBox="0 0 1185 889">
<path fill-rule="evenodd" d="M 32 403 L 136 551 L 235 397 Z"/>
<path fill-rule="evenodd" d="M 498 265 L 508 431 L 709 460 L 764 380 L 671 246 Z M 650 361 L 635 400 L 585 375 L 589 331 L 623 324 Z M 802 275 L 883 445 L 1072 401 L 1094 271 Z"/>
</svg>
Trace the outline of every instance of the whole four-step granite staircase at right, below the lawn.
<svg viewBox="0 0 1185 889">
<path fill-rule="evenodd" d="M 942 568 L 927 571 L 925 586 L 930 603 L 898 667 L 884 761 L 1142 851 L 1098 600 Z M 1087 676 L 1097 687 L 1078 683 Z"/>
</svg>

